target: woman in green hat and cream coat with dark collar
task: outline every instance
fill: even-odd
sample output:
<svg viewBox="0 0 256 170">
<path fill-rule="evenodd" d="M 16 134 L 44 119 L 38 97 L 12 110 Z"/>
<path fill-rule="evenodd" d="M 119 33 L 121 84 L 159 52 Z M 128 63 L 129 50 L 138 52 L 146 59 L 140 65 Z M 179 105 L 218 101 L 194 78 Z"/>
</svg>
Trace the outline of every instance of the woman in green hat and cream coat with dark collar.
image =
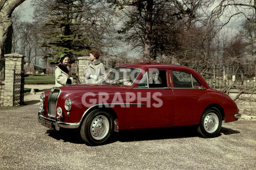
<svg viewBox="0 0 256 170">
<path fill-rule="evenodd" d="M 60 63 L 55 69 L 55 86 L 71 85 L 73 83 L 71 67 L 68 66 L 70 54 L 63 53 L 60 56 Z"/>
</svg>

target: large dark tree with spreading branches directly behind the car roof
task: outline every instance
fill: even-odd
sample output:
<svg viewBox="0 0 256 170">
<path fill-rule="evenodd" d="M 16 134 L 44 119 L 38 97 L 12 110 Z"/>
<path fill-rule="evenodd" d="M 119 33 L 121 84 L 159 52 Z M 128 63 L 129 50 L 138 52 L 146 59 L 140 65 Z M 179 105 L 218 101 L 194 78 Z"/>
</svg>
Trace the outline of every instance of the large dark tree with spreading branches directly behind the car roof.
<svg viewBox="0 0 256 170">
<path fill-rule="evenodd" d="M 188 29 L 199 27 L 199 11 L 212 3 L 203 0 L 109 2 L 121 6 L 128 16 L 129 20 L 119 32 L 126 33 L 126 41 L 134 48 L 143 50 L 144 61 L 174 56 L 179 51 L 179 37 L 182 39 Z"/>
</svg>

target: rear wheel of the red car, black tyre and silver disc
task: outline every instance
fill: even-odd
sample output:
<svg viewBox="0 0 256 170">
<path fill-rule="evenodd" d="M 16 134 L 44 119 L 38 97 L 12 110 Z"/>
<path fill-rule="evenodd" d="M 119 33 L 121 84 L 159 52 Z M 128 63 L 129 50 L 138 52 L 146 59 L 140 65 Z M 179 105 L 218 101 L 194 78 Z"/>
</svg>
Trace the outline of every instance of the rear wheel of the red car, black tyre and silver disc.
<svg viewBox="0 0 256 170">
<path fill-rule="evenodd" d="M 198 131 L 205 138 L 216 137 L 220 133 L 222 124 L 221 114 L 217 108 L 209 108 L 204 112 Z"/>
</svg>

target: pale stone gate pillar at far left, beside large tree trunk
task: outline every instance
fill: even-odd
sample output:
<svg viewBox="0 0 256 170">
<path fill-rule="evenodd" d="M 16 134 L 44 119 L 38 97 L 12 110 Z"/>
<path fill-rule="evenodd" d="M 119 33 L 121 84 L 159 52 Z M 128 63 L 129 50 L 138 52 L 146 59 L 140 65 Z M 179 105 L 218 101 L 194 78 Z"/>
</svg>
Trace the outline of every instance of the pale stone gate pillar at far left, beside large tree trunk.
<svg viewBox="0 0 256 170">
<path fill-rule="evenodd" d="M 13 106 L 14 70 L 22 71 L 24 69 L 24 57 L 17 53 L 5 54 L 4 106 Z"/>
</svg>

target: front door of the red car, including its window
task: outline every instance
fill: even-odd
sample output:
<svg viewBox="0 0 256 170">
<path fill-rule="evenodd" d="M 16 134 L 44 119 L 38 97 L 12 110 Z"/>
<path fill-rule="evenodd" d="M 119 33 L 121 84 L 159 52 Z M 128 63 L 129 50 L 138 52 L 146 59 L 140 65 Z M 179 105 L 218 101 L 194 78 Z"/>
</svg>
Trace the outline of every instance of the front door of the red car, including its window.
<svg viewBox="0 0 256 170">
<path fill-rule="evenodd" d="M 137 97 L 131 115 L 133 127 L 170 125 L 174 97 L 167 70 L 148 70 L 132 90 Z"/>
</svg>

